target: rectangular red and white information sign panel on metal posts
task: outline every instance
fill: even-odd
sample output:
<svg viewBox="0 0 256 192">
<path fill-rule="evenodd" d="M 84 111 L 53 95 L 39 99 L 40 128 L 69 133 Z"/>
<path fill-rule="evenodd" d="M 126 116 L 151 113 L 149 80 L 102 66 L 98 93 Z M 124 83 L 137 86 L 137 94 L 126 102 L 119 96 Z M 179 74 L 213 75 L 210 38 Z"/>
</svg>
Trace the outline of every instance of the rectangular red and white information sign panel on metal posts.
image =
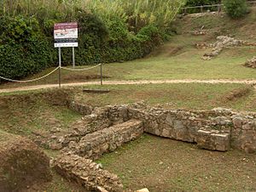
<svg viewBox="0 0 256 192">
<path fill-rule="evenodd" d="M 79 47 L 79 25 L 77 22 L 56 23 L 54 36 L 55 48 Z"/>
</svg>

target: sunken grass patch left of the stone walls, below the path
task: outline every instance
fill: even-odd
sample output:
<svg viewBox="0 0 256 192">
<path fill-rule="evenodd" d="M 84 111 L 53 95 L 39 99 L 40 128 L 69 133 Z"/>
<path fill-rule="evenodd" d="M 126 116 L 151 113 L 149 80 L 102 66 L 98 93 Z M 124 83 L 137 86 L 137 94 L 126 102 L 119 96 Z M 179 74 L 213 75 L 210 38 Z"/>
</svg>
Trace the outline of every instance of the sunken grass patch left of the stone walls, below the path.
<svg viewBox="0 0 256 192">
<path fill-rule="evenodd" d="M 0 98 L 0 129 L 9 133 L 31 136 L 45 133 L 53 127 L 67 130 L 81 115 L 65 106 L 50 104 L 40 92 L 23 93 Z"/>
</svg>

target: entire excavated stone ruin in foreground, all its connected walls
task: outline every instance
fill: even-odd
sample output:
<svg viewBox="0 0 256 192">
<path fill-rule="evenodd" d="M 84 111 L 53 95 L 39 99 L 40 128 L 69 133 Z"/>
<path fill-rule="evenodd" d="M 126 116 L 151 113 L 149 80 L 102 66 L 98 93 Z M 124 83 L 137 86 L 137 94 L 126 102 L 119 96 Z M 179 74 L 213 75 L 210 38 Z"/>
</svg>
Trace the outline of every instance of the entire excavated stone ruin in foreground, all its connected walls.
<svg viewBox="0 0 256 192">
<path fill-rule="evenodd" d="M 256 113 L 232 110 L 166 110 L 143 103 L 92 109 L 72 104 L 84 116 L 72 131 L 56 137 L 62 155 L 54 167 L 62 176 L 90 191 L 123 191 L 119 178 L 94 163 L 103 154 L 143 133 L 185 141 L 206 150 L 256 152 Z"/>
</svg>

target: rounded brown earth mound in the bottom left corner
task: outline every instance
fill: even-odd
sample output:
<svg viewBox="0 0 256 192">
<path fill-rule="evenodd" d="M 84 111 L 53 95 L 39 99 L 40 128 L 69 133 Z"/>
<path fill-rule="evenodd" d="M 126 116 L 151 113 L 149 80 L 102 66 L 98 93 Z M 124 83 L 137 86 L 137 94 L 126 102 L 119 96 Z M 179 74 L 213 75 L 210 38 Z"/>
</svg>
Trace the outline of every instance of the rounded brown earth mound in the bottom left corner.
<svg viewBox="0 0 256 192">
<path fill-rule="evenodd" d="M 49 158 L 32 141 L 0 131 L 0 191 L 51 180 Z"/>
</svg>

